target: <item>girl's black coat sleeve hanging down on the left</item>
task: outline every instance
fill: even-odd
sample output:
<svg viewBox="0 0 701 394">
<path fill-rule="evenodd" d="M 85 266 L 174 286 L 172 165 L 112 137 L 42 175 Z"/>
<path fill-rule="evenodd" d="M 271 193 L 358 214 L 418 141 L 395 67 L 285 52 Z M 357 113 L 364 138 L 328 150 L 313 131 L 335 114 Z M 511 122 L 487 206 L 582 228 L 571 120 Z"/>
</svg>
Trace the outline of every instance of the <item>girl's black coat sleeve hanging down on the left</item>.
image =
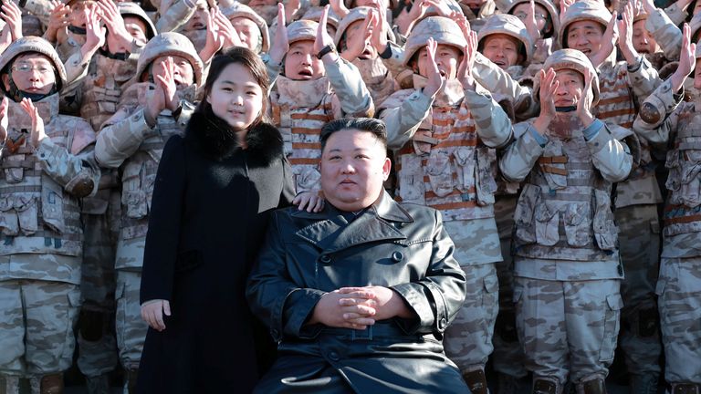
<svg viewBox="0 0 701 394">
<path fill-rule="evenodd" d="M 149 231 L 141 270 L 141 304 L 172 300 L 185 193 L 184 142 L 171 137 L 163 149 L 153 185 Z"/>
</svg>

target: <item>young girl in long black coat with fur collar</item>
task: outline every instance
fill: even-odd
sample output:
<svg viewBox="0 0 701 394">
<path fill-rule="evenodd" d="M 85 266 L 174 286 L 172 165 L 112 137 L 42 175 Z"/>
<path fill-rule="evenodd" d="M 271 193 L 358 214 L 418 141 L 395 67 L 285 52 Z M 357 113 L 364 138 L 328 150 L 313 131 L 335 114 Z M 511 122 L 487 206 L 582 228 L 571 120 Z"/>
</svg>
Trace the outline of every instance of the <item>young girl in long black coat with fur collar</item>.
<svg viewBox="0 0 701 394">
<path fill-rule="evenodd" d="M 294 198 L 268 78 L 234 47 L 215 57 L 184 137 L 165 146 L 141 281 L 149 333 L 138 392 L 248 392 L 256 384 L 246 275 L 267 213 Z"/>
</svg>

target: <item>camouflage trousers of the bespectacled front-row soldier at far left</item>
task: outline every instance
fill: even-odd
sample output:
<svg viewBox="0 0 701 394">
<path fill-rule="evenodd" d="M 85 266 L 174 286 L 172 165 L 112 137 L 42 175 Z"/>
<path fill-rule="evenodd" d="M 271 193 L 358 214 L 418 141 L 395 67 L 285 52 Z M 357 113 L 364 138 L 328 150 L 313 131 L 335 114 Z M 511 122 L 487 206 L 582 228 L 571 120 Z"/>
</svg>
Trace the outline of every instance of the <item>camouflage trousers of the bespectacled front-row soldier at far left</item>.
<svg viewBox="0 0 701 394">
<path fill-rule="evenodd" d="M 3 256 L 0 261 L 12 264 L 14 258 Z M 79 258 L 73 259 L 79 263 Z M 70 368 L 75 348 L 73 327 L 80 307 L 78 285 L 2 280 L 0 305 L 0 374 L 42 376 Z"/>
</svg>

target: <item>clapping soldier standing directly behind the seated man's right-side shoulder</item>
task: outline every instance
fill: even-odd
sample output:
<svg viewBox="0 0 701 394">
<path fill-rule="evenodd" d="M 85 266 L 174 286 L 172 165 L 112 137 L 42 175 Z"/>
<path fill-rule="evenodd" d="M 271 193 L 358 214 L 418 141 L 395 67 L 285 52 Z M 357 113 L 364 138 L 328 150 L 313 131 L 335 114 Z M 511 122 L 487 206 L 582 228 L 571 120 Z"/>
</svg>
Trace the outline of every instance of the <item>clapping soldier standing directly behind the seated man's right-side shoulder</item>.
<svg viewBox="0 0 701 394">
<path fill-rule="evenodd" d="M 443 16 L 422 20 L 406 45 L 414 89 L 385 100 L 380 118 L 395 150 L 398 199 L 439 210 L 455 243 L 468 285 L 466 302 L 445 331 L 445 354 L 470 390 L 483 394 L 498 309 L 495 263 L 502 259 L 495 148 L 511 138 L 511 122 L 472 78 L 476 47 L 476 33 L 466 24 Z"/>
</svg>

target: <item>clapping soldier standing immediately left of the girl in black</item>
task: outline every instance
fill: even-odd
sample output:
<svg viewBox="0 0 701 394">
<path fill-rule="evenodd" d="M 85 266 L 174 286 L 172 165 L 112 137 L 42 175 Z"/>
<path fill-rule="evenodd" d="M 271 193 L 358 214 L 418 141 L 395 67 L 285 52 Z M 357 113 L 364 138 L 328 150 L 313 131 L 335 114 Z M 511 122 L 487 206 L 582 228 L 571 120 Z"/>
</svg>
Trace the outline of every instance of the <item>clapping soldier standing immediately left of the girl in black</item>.
<svg viewBox="0 0 701 394">
<path fill-rule="evenodd" d="M 117 345 L 134 392 L 148 326 L 141 320 L 139 290 L 143 246 L 158 162 L 173 135 L 183 135 L 194 111 L 194 92 L 203 65 L 187 37 L 162 33 L 141 52 L 120 108 L 99 131 L 95 157 L 100 166 L 119 168 L 121 222 L 117 242 Z M 166 81 L 167 86 L 166 86 Z"/>
</svg>

